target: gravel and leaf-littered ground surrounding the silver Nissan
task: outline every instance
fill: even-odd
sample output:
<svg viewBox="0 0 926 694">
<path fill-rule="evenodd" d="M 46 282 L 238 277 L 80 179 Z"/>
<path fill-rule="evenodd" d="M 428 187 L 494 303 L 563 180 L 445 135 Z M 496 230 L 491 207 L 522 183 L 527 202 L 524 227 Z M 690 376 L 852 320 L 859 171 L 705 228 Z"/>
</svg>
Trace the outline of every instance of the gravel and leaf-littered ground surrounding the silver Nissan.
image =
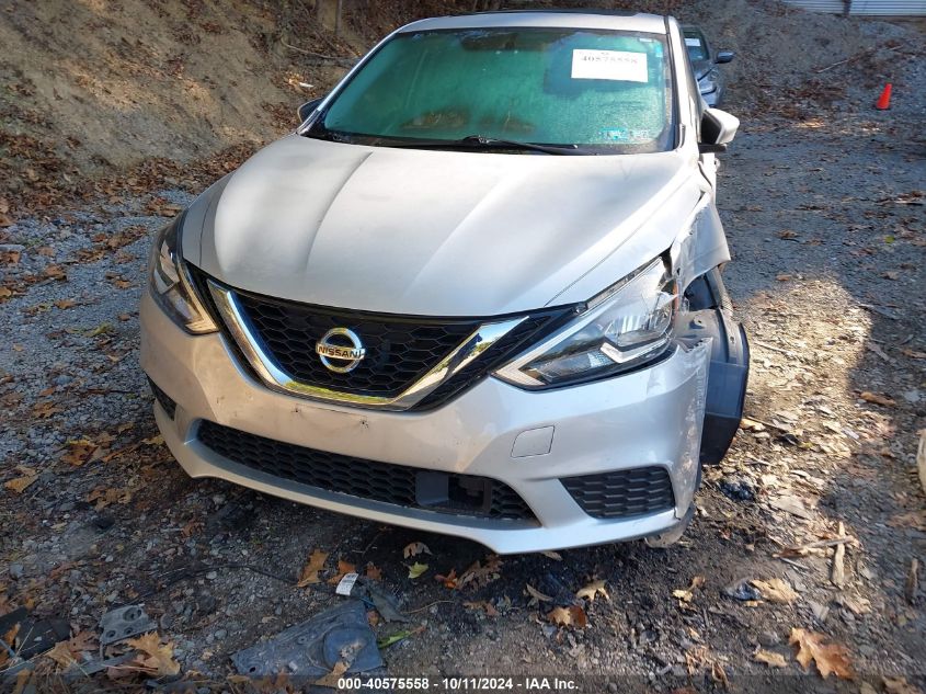
<svg viewBox="0 0 926 694">
<path fill-rule="evenodd" d="M 87 639 L 68 652 L 88 669 L 101 615 L 144 603 L 180 664 L 161 684 L 238 691 L 230 656 L 339 604 L 329 580 L 342 561 L 409 618 L 376 618 L 377 638 L 404 637 L 381 648 L 390 675 L 547 674 L 586 678 L 590 692 L 926 691 L 923 35 L 771 2 L 683 10 L 740 54 L 725 107 L 743 123 L 721 157 L 719 207 L 752 372 L 748 419 L 706 471 L 679 544 L 493 558 L 188 479 L 153 425 L 138 299 L 151 232 L 244 150 L 216 156 L 229 143 L 208 141 L 210 159 L 180 166 L 155 147 L 164 161 L 126 159 L 44 206 L 14 186 L 0 208 L 0 619 L 18 606 L 64 618 Z M 808 48 L 776 55 L 788 31 Z M 874 111 L 888 79 L 893 107 Z M 22 157 L 11 170 L 30 168 Z M 412 543 L 430 554 L 404 557 Z M 316 550 L 328 555 L 321 580 L 297 588 Z M 416 561 L 427 569 L 412 579 Z M 490 568 L 462 589 L 435 580 L 477 561 Z M 595 581 L 605 594 L 576 598 Z M 570 605 L 584 628 L 550 623 Z M 824 656 L 854 679 L 824 680 L 820 660 L 804 669 L 793 629 L 824 635 Z M 30 664 L 50 675 L 67 662 Z"/>
</svg>

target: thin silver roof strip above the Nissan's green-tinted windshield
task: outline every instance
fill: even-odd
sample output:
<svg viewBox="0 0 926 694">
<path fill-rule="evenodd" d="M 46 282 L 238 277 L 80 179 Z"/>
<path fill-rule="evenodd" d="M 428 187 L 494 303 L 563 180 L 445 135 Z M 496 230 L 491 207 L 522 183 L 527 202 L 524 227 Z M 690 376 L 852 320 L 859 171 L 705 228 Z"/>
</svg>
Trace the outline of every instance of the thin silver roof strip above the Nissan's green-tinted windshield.
<svg viewBox="0 0 926 694">
<path fill-rule="evenodd" d="M 400 32 L 432 31 L 442 29 L 493 29 L 493 27 L 551 27 L 551 29 L 597 29 L 665 34 L 665 18 L 659 14 L 582 11 L 502 11 L 478 14 L 460 14 L 419 20 L 407 24 Z"/>
</svg>

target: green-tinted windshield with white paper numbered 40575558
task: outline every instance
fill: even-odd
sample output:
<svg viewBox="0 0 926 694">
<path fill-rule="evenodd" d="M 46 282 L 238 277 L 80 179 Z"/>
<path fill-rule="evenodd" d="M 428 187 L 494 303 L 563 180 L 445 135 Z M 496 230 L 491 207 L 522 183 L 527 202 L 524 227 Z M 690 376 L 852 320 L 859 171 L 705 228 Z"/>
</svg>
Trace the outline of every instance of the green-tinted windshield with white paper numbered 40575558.
<svg viewBox="0 0 926 694">
<path fill-rule="evenodd" d="M 664 36 L 431 31 L 398 34 L 381 46 L 307 135 L 432 148 L 480 136 L 630 153 L 670 149 L 672 112 Z"/>
</svg>

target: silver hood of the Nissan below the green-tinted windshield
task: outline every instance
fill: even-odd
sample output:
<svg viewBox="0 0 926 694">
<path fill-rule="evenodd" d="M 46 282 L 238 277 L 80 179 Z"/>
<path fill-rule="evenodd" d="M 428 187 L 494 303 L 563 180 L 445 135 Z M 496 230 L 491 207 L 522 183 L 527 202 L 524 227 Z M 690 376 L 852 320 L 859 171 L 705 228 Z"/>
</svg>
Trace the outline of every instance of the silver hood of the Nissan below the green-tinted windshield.
<svg viewBox="0 0 926 694">
<path fill-rule="evenodd" d="M 291 135 L 197 201 L 184 257 L 231 286 L 316 305 L 431 316 L 536 309 L 639 241 L 656 212 L 664 219 L 693 170 L 679 152 L 506 155 Z M 627 272 L 676 231 L 654 235 L 649 258 L 630 259 Z"/>
</svg>

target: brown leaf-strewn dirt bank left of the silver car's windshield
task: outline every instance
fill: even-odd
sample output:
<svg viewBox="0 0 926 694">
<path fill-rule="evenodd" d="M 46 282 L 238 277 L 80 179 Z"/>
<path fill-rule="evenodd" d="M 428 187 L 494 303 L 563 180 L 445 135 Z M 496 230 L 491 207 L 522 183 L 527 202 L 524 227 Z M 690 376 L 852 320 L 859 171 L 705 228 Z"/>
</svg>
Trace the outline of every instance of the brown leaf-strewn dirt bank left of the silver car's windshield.
<svg viewBox="0 0 926 694">
<path fill-rule="evenodd" d="M 152 159 L 233 148 L 239 160 L 291 128 L 296 106 L 376 37 L 454 7 L 347 2 L 335 35 L 334 1 L 317 1 L 318 11 L 267 0 L 4 3 L 0 197 L 12 217 L 92 192 L 88 175 L 119 178 Z"/>
</svg>

